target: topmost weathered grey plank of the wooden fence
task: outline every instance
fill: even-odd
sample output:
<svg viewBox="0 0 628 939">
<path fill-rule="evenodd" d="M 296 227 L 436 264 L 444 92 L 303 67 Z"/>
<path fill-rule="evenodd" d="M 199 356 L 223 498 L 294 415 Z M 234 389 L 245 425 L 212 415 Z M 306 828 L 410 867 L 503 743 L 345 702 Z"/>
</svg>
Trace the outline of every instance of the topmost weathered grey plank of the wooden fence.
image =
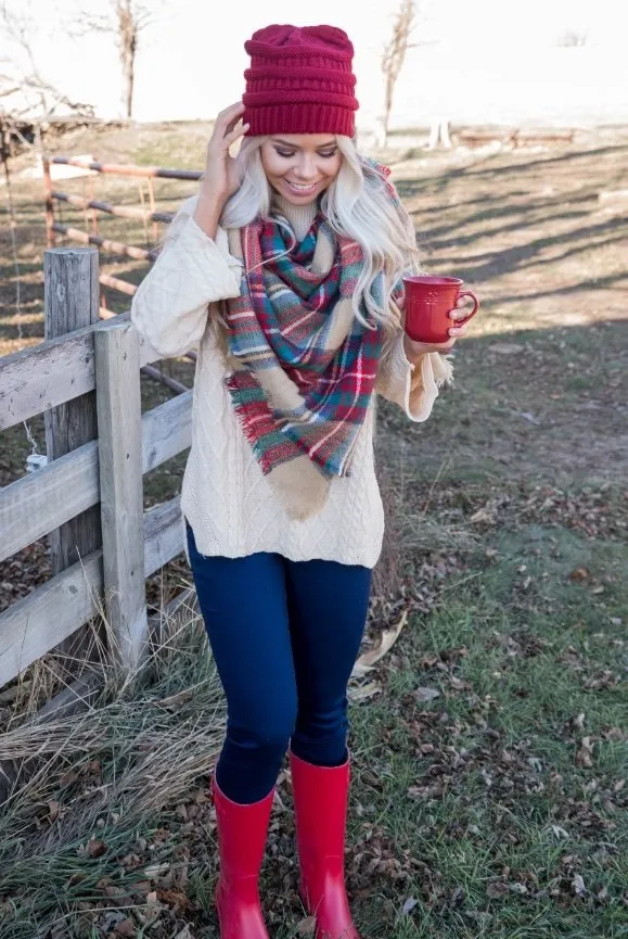
<svg viewBox="0 0 628 939">
<path fill-rule="evenodd" d="M 113 321 L 129 320 L 129 313 L 120 313 Z M 94 333 L 108 329 L 111 322 L 99 322 L 72 335 L 3 356 L 0 361 L 0 430 L 93 391 Z M 140 366 L 162 357 L 142 337 L 139 343 Z"/>
</svg>

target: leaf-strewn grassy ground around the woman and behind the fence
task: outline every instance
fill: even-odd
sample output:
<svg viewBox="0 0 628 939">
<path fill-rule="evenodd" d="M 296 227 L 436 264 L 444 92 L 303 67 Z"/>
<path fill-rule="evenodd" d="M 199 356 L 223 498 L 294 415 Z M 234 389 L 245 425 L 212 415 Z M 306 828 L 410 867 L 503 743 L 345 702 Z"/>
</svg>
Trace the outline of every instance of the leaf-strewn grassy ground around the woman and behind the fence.
<svg viewBox="0 0 628 939">
<path fill-rule="evenodd" d="M 181 134 L 59 150 L 202 165 L 203 128 L 189 145 Z M 388 529 L 366 648 L 406 624 L 351 687 L 346 862 L 364 939 L 628 937 L 628 221 L 620 196 L 600 198 L 628 188 L 627 157 L 619 131 L 564 150 L 389 155 L 426 269 L 464 277 L 483 312 L 426 424 L 380 406 Z M 137 201 L 128 183 L 97 183 L 101 198 L 106 185 L 111 201 Z M 187 191 L 166 183 L 159 205 Z M 22 328 L 35 342 L 37 185 L 15 196 Z M 144 243 L 125 226 L 103 231 Z M 0 265 L 5 353 L 18 321 L 5 231 Z M 105 269 L 142 274 L 121 258 Z M 189 364 L 164 368 L 190 383 Z M 143 384 L 146 407 L 169 394 Z M 1 435 L 0 484 L 28 452 L 22 428 Z M 183 466 L 146 478 L 146 505 L 177 491 Z M 44 543 L 0 564 L 0 607 L 44 575 Z M 178 559 L 150 597 L 185 581 Z M 29 719 L 53 661 L 0 691 L 0 761 L 21 766 L 0 808 L 1 939 L 218 936 L 206 785 L 225 706 L 205 648 L 184 612 L 136 685 L 112 674 L 89 713 L 55 723 Z M 282 773 L 262 877 L 277 939 L 311 925 L 291 810 Z"/>
</svg>

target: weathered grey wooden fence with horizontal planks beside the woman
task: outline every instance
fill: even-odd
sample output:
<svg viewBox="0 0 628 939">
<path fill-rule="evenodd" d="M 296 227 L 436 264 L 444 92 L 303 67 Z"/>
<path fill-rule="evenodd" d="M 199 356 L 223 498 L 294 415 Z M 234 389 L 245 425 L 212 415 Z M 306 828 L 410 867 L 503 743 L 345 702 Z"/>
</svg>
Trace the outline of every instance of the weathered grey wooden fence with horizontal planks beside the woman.
<svg viewBox="0 0 628 939">
<path fill-rule="evenodd" d="M 88 304 L 90 325 L 1 359 L 0 431 L 46 413 L 48 439 L 81 408 L 95 421 L 93 439 L 59 456 L 49 446 L 46 467 L 0 490 L 0 560 L 59 532 L 78 548 L 65 560 L 61 551 L 51 580 L 0 614 L 0 686 L 101 609 L 133 668 L 148 632 L 145 578 L 183 549 L 179 497 L 144 512 L 142 475 L 190 446 L 192 391 L 142 415 L 140 368 L 159 356 L 128 313 L 98 321 L 95 249 L 47 251 L 44 292 L 65 314 Z M 90 515 L 86 538 L 73 524 Z"/>
</svg>

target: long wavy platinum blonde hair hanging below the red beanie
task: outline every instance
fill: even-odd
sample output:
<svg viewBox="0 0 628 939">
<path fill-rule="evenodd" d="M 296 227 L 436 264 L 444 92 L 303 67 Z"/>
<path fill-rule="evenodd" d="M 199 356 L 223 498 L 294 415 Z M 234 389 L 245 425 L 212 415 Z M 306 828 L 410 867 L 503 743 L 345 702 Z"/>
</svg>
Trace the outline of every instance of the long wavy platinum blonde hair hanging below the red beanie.
<svg viewBox="0 0 628 939">
<path fill-rule="evenodd" d="M 254 218 L 272 217 L 272 189 L 260 153 L 267 139 L 247 137 L 242 142 L 236 157 L 241 186 L 225 206 L 223 228 L 243 228 Z M 392 293 L 403 275 L 421 270 L 414 227 L 406 210 L 390 199 L 385 174 L 358 153 L 349 137 L 336 136 L 336 143 L 343 161 L 322 195 L 321 210 L 335 231 L 362 250 L 364 263 L 353 297 L 355 316 L 368 328 L 381 325 L 390 333 L 401 325 Z M 373 290 L 381 274 L 383 292 Z"/>
</svg>

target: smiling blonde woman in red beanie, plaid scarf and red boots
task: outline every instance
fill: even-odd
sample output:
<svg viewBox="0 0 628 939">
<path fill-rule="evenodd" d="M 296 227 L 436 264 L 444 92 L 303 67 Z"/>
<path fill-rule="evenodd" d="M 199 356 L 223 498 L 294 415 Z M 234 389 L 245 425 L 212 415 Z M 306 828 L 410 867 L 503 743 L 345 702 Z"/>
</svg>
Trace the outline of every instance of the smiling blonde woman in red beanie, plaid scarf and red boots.
<svg viewBox="0 0 628 939">
<path fill-rule="evenodd" d="M 228 705 L 220 935 L 267 939 L 258 875 L 290 747 L 304 902 L 319 939 L 356 939 L 346 693 L 383 537 L 374 392 L 425 420 L 464 330 L 440 346 L 403 333 L 415 238 L 387 172 L 353 143 L 346 34 L 275 25 L 245 48 L 243 103 L 219 115 L 200 193 L 131 318 L 163 356 L 198 343 L 181 505 Z"/>
</svg>

